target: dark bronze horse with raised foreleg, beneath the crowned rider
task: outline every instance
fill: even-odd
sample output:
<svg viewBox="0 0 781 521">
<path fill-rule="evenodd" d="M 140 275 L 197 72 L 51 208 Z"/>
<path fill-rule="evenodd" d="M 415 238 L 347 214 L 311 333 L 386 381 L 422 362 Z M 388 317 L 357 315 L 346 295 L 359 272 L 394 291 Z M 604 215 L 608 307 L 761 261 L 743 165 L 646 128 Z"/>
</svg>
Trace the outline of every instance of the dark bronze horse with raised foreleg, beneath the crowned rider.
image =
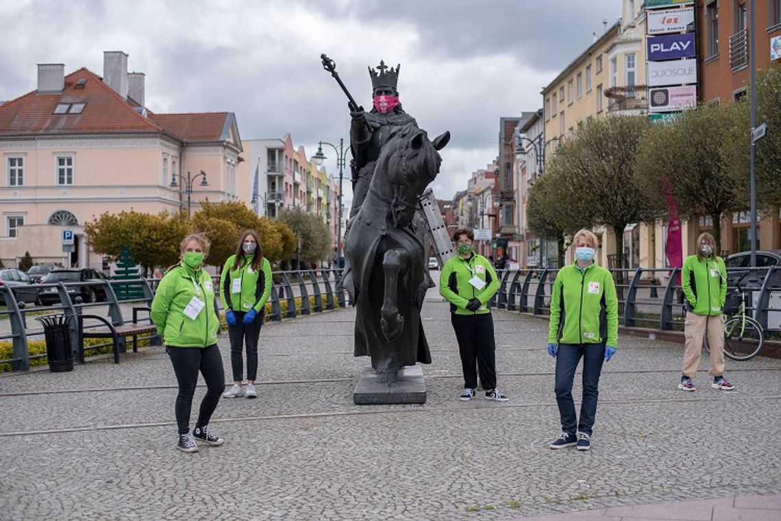
<svg viewBox="0 0 781 521">
<path fill-rule="evenodd" d="M 356 306 L 355 356 L 371 356 L 378 381 L 397 379 L 398 369 L 431 363 L 420 320 L 431 287 L 426 235 L 418 199 L 437 177 L 445 132 L 430 141 L 410 123 L 388 137 L 377 158 L 369 191 L 350 223 L 344 287 Z"/>
</svg>

